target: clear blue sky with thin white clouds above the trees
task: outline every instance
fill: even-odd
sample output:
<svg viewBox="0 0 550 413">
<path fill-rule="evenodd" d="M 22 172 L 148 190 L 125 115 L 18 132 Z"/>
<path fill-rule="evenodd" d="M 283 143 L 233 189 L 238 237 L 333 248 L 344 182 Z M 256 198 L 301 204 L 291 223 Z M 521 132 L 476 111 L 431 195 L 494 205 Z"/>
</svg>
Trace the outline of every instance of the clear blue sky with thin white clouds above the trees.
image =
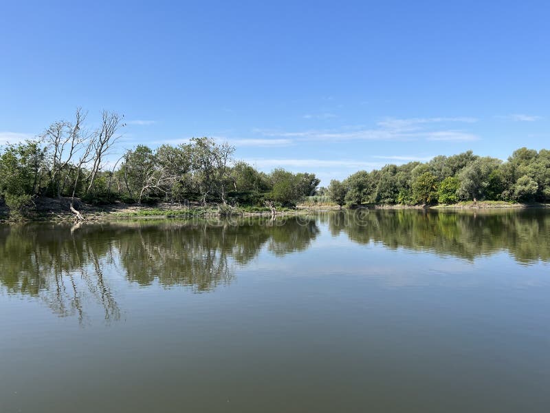
<svg viewBox="0 0 550 413">
<path fill-rule="evenodd" d="M 547 1 L 3 1 L 0 143 L 124 114 L 119 150 L 228 140 L 327 184 L 550 148 Z"/>
</svg>

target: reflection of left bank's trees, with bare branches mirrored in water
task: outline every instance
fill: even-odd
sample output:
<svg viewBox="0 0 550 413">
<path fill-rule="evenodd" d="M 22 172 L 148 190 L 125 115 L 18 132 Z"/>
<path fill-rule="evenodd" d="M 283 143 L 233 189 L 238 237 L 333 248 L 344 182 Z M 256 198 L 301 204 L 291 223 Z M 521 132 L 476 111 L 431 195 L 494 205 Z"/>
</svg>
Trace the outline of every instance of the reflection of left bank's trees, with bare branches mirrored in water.
<svg viewBox="0 0 550 413">
<path fill-rule="evenodd" d="M 109 286 L 113 272 L 141 286 L 156 281 L 203 293 L 230 282 L 234 266 L 250 262 L 263 246 L 282 256 L 305 250 L 318 233 L 314 218 L 288 217 L 0 226 L 0 284 L 81 323 L 93 299 L 113 320 L 120 317 Z"/>
</svg>

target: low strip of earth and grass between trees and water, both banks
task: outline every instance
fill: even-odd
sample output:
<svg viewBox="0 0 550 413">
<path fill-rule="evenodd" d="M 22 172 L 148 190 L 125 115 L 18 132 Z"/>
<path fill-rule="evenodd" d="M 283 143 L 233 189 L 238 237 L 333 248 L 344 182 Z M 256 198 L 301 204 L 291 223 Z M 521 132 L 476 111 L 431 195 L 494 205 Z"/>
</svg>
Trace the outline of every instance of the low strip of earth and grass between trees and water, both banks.
<svg viewBox="0 0 550 413">
<path fill-rule="evenodd" d="M 21 221 L 48 221 L 63 222 L 74 220 L 74 213 L 70 210 L 70 198 L 38 198 L 34 207 L 25 211 Z M 91 205 L 76 201 L 76 208 L 87 220 L 99 221 L 119 218 L 194 218 L 194 217 L 219 217 L 219 216 L 271 216 L 267 207 L 230 207 L 227 205 L 212 204 L 201 207 L 199 204 L 170 204 L 162 203 L 155 206 L 124 204 L 118 202 L 109 205 Z M 550 209 L 550 204 L 542 203 L 510 203 L 502 201 L 483 202 L 459 202 L 449 205 L 434 205 L 423 207 L 421 205 L 396 205 L 396 204 L 364 204 L 353 209 L 435 209 L 435 210 L 476 210 L 476 209 Z M 338 211 L 337 205 L 298 205 L 296 208 L 277 209 L 277 215 L 303 215 L 305 213 L 318 213 Z M 347 210 L 347 208 L 342 208 Z M 0 205 L 0 222 L 10 221 L 10 211 L 5 205 Z"/>
</svg>

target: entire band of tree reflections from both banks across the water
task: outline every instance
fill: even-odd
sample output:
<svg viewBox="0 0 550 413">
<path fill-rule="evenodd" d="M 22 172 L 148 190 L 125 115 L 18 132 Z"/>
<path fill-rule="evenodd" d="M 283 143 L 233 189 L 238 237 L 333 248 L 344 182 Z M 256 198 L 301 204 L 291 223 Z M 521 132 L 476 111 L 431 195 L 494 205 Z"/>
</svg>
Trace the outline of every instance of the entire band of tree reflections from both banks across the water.
<svg viewBox="0 0 550 413">
<path fill-rule="evenodd" d="M 106 320 L 120 318 L 113 282 L 186 286 L 203 293 L 234 279 L 262 249 L 283 257 L 320 234 L 359 244 L 407 248 L 465 260 L 507 251 L 520 264 L 550 261 L 550 213 L 362 210 L 316 217 L 124 221 L 0 226 L 0 285 L 39 297 L 81 323 L 91 301 Z M 118 278 L 117 278 L 118 276 Z"/>
</svg>

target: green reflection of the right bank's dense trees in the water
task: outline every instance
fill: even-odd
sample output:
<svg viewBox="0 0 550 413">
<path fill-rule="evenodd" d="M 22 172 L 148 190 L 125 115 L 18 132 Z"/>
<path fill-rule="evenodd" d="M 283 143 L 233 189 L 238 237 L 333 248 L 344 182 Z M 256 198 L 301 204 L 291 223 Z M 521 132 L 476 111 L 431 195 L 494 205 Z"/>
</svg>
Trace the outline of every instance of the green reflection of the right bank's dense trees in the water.
<svg viewBox="0 0 550 413">
<path fill-rule="evenodd" d="M 322 216 L 332 235 L 466 260 L 507 251 L 520 264 L 550 261 L 550 212 L 358 210 Z"/>
</svg>

